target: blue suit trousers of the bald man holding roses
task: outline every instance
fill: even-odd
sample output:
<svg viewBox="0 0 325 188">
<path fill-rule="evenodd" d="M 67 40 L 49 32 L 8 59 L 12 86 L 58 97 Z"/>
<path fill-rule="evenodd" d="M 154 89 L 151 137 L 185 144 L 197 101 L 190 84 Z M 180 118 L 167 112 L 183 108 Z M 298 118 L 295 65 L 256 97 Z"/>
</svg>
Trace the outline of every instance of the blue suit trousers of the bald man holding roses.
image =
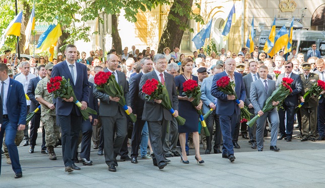
<svg viewBox="0 0 325 188">
<path fill-rule="evenodd" d="M 234 154 L 232 135 L 234 135 L 235 127 L 238 123 L 238 115 L 235 112 L 232 116 L 219 115 L 219 120 L 223 141 L 222 152 L 228 155 Z"/>
</svg>

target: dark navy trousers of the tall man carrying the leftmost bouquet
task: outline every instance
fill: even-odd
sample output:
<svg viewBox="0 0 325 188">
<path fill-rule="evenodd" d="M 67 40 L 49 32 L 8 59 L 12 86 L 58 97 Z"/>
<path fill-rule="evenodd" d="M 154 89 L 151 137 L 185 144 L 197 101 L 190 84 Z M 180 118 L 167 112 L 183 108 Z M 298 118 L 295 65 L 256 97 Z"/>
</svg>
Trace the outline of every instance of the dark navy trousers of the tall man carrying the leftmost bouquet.
<svg viewBox="0 0 325 188">
<path fill-rule="evenodd" d="M 65 166 L 74 164 L 81 130 L 82 116 L 77 116 L 76 106 L 69 116 L 57 115 L 61 127 L 62 158 Z"/>
</svg>

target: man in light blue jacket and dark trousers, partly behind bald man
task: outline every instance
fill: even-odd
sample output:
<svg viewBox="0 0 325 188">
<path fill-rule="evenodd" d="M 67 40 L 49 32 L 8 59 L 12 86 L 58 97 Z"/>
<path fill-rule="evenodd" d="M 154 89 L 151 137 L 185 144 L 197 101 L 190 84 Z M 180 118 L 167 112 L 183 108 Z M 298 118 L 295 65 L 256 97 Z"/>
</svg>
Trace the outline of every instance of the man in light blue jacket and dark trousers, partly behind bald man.
<svg viewBox="0 0 325 188">
<path fill-rule="evenodd" d="M 216 65 L 212 69 L 212 75 L 218 74 L 223 72 L 223 67 L 220 65 Z M 213 123 L 216 123 L 216 132 L 215 132 L 215 144 L 213 146 L 214 153 L 221 153 L 220 151 L 220 144 L 221 144 L 221 129 L 220 129 L 220 123 L 219 123 L 219 115 L 216 114 L 216 105 L 215 101 L 217 101 L 217 98 L 213 97 L 211 95 L 211 85 L 213 81 L 213 76 L 207 77 L 203 79 L 202 85 L 201 85 L 201 100 L 203 101 L 203 113 L 206 114 L 210 111 L 210 109 L 213 109 L 212 113 L 207 117 L 207 127 L 210 132 L 210 136 L 206 137 L 207 140 L 207 149 L 205 151 L 205 154 L 210 154 L 212 150 L 212 137 L 213 137 Z"/>
</svg>

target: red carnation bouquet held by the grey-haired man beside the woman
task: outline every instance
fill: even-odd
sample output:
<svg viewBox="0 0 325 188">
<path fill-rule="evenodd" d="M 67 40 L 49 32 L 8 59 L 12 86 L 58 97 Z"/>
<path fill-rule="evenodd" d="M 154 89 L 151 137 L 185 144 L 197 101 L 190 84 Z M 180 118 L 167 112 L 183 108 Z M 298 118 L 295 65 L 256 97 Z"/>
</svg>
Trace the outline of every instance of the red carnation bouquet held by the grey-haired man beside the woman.
<svg viewBox="0 0 325 188">
<path fill-rule="evenodd" d="M 142 86 L 142 92 L 145 93 L 146 99 L 147 100 L 161 100 L 161 105 L 169 110 L 169 112 L 174 115 L 175 111 L 171 106 L 171 101 L 169 99 L 169 94 L 166 89 L 166 86 L 163 85 L 160 81 L 156 80 L 155 78 L 148 79 L 146 83 Z M 185 119 L 177 116 L 176 121 L 178 125 L 184 125 L 185 124 Z M 167 130 L 168 132 L 168 130 Z"/>
</svg>

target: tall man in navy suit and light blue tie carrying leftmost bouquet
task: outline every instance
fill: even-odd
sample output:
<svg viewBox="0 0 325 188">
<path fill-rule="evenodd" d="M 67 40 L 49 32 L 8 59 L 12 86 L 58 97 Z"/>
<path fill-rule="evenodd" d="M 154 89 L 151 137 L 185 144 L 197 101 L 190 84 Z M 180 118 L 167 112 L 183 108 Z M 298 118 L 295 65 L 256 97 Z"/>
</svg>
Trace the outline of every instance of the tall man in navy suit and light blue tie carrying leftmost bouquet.
<svg viewBox="0 0 325 188">
<path fill-rule="evenodd" d="M 64 76 L 67 80 L 70 79 L 76 98 L 82 104 L 81 110 L 85 110 L 89 97 L 87 67 L 76 62 L 77 47 L 75 45 L 67 45 L 64 55 L 67 59 L 53 67 L 51 77 Z M 66 172 L 72 172 L 74 169 L 80 170 L 80 167 L 75 165 L 74 159 L 81 130 L 82 114 L 72 102 L 73 97 L 56 99 L 56 115 L 61 127 L 62 157 Z"/>
</svg>

